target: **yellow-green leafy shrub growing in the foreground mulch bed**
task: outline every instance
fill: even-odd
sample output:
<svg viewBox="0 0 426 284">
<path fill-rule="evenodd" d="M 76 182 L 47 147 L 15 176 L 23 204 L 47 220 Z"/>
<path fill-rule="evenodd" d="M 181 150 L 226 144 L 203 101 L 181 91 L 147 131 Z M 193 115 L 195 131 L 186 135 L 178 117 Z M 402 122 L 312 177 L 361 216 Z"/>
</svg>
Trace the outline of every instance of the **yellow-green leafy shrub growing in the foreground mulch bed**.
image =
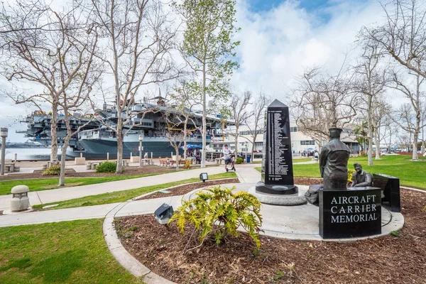
<svg viewBox="0 0 426 284">
<path fill-rule="evenodd" d="M 260 247 L 258 232 L 262 224 L 261 202 L 248 192 L 233 193 L 234 189 L 216 186 L 198 192 L 194 199 L 182 202 L 170 222 L 176 221 L 182 234 L 185 234 L 187 222 L 194 224 L 195 229 L 188 244 L 195 235 L 200 239 L 201 246 L 212 234 L 219 244 L 228 235 L 238 237 L 236 229 L 241 226 Z"/>
</svg>

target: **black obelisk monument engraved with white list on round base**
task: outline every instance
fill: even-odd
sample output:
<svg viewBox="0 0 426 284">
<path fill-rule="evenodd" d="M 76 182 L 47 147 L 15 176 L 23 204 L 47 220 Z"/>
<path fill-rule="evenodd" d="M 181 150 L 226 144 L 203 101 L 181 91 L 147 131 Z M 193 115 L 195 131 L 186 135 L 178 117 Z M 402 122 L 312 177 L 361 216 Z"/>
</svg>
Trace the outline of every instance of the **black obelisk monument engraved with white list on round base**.
<svg viewBox="0 0 426 284">
<path fill-rule="evenodd" d="M 275 99 L 266 111 L 265 123 L 262 181 L 256 184 L 256 192 L 293 195 L 298 189 L 293 179 L 288 107 Z"/>
</svg>

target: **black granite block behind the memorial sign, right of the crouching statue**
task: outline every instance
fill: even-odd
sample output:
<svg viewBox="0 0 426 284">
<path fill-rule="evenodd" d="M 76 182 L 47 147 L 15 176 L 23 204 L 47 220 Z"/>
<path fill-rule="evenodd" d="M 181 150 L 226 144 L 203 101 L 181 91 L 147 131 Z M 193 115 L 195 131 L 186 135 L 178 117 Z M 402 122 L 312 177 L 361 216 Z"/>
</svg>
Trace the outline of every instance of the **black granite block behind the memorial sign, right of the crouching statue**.
<svg viewBox="0 0 426 284">
<path fill-rule="evenodd" d="M 373 174 L 373 186 L 383 190 L 383 202 L 388 202 L 392 212 L 401 212 L 399 178 L 381 173 Z"/>
</svg>

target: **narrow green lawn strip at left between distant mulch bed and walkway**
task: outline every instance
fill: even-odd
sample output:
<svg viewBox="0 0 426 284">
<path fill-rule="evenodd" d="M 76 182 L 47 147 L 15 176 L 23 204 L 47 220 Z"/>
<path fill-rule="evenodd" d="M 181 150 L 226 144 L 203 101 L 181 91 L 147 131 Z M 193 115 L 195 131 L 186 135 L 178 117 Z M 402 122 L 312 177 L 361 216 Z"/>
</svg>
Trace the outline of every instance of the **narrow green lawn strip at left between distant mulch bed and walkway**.
<svg viewBox="0 0 426 284">
<path fill-rule="evenodd" d="M 169 173 L 169 172 L 166 172 Z M 143 178 L 151 175 L 162 175 L 164 173 L 151 173 L 148 175 L 117 175 L 103 178 L 65 178 L 65 187 L 77 185 L 94 185 L 95 183 L 114 182 L 116 180 L 129 180 L 131 178 Z M 31 180 L 6 180 L 0 182 L 0 195 L 9 195 L 12 187 L 16 185 L 27 185 L 30 191 L 54 190 L 58 188 L 59 178 L 36 178 Z"/>
</svg>

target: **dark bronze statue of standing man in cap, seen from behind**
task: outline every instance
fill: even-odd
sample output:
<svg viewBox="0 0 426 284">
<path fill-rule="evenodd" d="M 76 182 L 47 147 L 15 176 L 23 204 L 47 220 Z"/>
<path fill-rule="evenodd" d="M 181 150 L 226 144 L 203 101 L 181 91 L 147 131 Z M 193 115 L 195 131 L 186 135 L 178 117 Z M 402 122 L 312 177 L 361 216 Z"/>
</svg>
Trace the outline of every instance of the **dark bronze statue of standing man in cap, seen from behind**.
<svg viewBox="0 0 426 284">
<path fill-rule="evenodd" d="M 342 129 L 329 129 L 329 131 L 332 140 L 322 147 L 320 153 L 320 172 L 324 179 L 324 190 L 345 190 L 351 151 L 340 141 Z"/>
</svg>

